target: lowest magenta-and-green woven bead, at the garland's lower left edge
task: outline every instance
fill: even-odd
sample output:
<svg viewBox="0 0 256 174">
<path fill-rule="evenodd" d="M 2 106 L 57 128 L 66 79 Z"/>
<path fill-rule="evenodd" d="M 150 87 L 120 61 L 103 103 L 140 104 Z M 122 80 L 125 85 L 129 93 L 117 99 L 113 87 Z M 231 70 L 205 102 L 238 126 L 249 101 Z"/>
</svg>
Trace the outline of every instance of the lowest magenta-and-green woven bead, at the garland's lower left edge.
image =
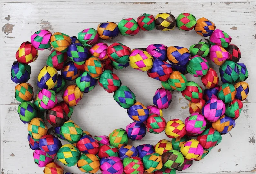
<svg viewBox="0 0 256 174">
<path fill-rule="evenodd" d="M 54 161 L 54 157 L 51 157 L 42 150 L 35 150 L 33 152 L 33 158 L 38 167 L 45 167 L 50 162 Z"/>
</svg>

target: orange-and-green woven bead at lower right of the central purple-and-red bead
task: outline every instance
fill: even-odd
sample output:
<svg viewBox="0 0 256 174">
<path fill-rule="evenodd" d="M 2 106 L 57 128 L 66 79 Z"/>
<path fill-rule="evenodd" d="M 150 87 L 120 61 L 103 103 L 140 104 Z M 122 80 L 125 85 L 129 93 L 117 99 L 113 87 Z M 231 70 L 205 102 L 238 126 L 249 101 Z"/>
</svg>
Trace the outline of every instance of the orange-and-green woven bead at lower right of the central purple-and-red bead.
<svg viewBox="0 0 256 174">
<path fill-rule="evenodd" d="M 179 71 L 173 71 L 168 79 L 168 84 L 177 91 L 185 90 L 187 82 L 187 78 Z"/>
</svg>

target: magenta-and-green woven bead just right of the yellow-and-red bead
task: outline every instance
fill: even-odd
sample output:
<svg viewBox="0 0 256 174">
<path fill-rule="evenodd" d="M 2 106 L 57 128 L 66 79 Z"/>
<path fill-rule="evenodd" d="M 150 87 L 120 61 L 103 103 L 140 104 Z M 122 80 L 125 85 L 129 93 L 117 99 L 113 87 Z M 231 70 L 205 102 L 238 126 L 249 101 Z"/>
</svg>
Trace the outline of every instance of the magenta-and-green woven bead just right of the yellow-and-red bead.
<svg viewBox="0 0 256 174">
<path fill-rule="evenodd" d="M 202 114 L 194 112 L 186 118 L 185 128 L 190 134 L 201 134 L 206 128 L 206 120 Z"/>
</svg>

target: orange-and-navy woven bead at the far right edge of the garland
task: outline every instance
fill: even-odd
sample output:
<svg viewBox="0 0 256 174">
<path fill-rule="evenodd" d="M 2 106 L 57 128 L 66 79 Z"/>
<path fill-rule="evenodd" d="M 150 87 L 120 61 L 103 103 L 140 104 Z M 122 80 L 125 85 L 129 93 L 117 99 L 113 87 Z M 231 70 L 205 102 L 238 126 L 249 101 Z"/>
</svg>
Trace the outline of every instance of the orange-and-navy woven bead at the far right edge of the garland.
<svg viewBox="0 0 256 174">
<path fill-rule="evenodd" d="M 236 89 L 235 98 L 241 101 L 245 100 L 249 93 L 249 84 L 246 82 L 237 82 L 234 84 L 234 87 Z"/>
</svg>

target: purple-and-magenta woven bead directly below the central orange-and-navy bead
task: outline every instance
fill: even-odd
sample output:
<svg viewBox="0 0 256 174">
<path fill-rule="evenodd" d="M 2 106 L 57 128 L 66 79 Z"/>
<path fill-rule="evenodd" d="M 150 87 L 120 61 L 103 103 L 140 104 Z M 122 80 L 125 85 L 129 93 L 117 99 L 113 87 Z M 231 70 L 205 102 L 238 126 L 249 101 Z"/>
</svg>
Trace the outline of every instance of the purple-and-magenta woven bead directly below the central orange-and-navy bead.
<svg viewBox="0 0 256 174">
<path fill-rule="evenodd" d="M 128 138 L 132 141 L 141 140 L 146 135 L 146 126 L 144 123 L 130 123 L 126 126 Z"/>
</svg>

